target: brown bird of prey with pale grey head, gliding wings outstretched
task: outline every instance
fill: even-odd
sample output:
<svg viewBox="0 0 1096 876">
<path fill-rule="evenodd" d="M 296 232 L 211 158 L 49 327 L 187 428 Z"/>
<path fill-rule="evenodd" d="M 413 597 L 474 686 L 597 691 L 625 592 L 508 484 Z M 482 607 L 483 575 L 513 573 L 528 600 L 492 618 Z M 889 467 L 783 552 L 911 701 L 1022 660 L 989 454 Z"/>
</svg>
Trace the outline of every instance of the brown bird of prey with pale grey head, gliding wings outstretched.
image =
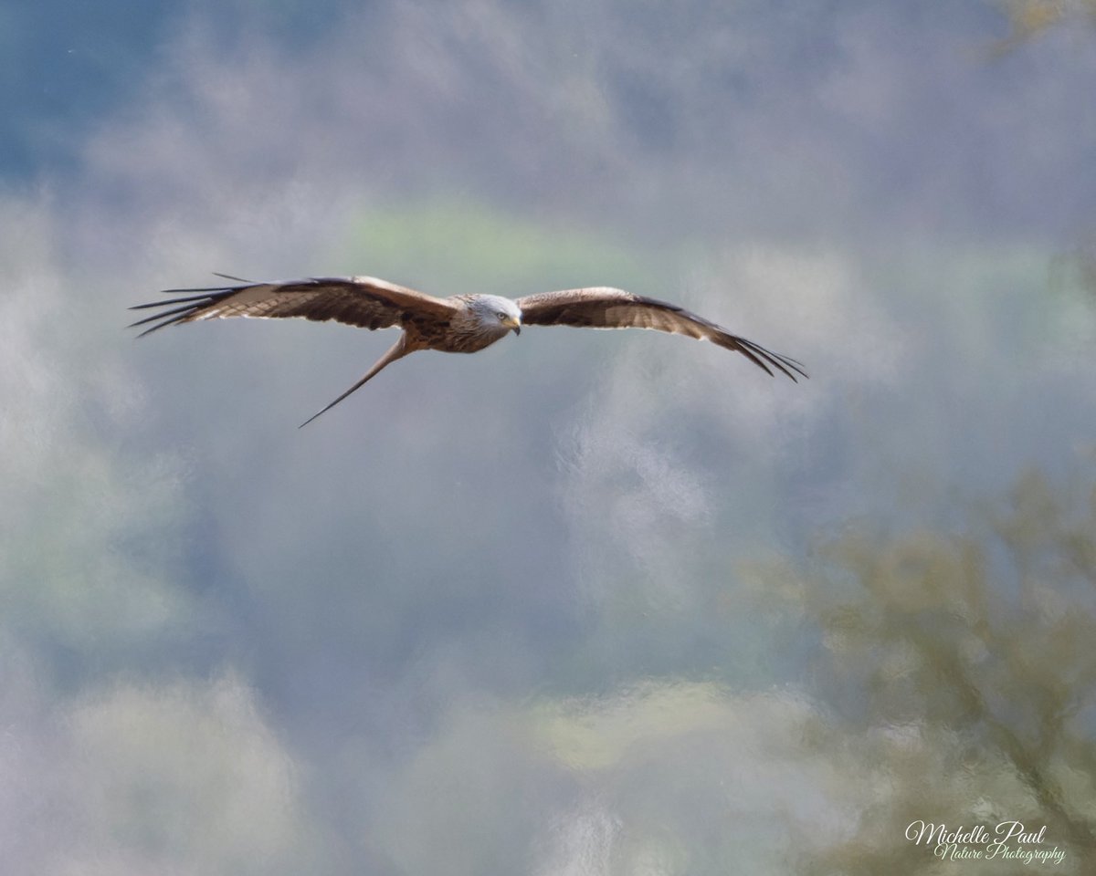
<svg viewBox="0 0 1096 876">
<path fill-rule="evenodd" d="M 397 359 L 420 349 L 476 353 L 510 332 L 521 334 L 526 325 L 571 325 L 583 328 L 653 328 L 659 332 L 710 341 L 735 350 L 768 374 L 774 369 L 796 380 L 807 377 L 802 362 L 732 335 L 713 322 L 665 301 L 632 295 L 623 289 L 593 287 L 529 295 L 517 300 L 495 295 L 457 295 L 435 298 L 376 277 L 323 277 L 289 283 L 249 283 L 218 274 L 239 286 L 203 289 L 165 289 L 173 298 L 137 304 L 130 310 L 159 308 L 151 316 L 129 327 L 152 325 L 138 335 L 168 325 L 225 316 L 284 319 L 300 316 L 333 320 L 361 328 L 403 330 L 399 339 L 374 364 L 365 377 L 301 426 L 339 402 Z"/>
</svg>

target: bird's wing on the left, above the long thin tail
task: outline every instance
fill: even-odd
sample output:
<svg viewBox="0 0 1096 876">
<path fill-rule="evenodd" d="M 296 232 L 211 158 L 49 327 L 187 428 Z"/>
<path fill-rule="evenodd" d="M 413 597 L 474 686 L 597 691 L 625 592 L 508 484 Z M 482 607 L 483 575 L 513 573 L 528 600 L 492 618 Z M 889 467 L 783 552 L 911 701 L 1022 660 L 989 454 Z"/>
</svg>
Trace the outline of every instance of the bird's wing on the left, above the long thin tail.
<svg viewBox="0 0 1096 876">
<path fill-rule="evenodd" d="M 176 297 L 130 308 L 160 310 L 129 327 L 155 323 L 141 332 L 141 335 L 147 335 L 157 328 L 195 320 L 299 316 L 319 322 L 334 320 L 362 328 L 414 325 L 429 330 L 447 323 L 459 310 L 458 306 L 445 299 L 375 277 L 322 277 L 164 291 Z"/>
</svg>

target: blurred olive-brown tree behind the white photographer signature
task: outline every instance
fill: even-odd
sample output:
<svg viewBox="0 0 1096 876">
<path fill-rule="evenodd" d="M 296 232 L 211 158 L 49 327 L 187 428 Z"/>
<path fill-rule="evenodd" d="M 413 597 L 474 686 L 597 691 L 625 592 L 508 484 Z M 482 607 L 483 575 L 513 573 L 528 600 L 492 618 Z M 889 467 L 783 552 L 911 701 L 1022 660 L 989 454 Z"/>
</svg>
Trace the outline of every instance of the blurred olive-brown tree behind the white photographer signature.
<svg viewBox="0 0 1096 876">
<path fill-rule="evenodd" d="M 757 579 L 821 629 L 818 683 L 841 714 L 819 738 L 856 746 L 870 788 L 807 872 L 936 872 L 904 835 L 917 819 L 1046 825 L 1043 848 L 1091 872 L 1096 489 L 1081 505 L 1029 473 L 980 533 L 857 532 L 822 550 L 822 575 Z"/>
</svg>

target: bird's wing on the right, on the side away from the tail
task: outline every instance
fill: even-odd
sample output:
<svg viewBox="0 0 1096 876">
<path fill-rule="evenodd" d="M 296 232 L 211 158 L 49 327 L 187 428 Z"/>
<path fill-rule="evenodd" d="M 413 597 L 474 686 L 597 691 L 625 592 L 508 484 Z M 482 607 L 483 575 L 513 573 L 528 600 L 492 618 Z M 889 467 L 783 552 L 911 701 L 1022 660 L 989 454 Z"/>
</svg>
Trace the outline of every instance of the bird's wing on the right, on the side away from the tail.
<svg viewBox="0 0 1096 876">
<path fill-rule="evenodd" d="M 760 344 L 732 335 L 704 316 L 677 304 L 632 295 L 624 289 L 595 287 L 543 292 L 517 299 L 523 325 L 572 325 L 583 328 L 653 328 L 710 341 L 741 353 L 769 374 L 773 368 L 796 380 L 807 377 L 802 362 L 765 349 Z"/>
</svg>

